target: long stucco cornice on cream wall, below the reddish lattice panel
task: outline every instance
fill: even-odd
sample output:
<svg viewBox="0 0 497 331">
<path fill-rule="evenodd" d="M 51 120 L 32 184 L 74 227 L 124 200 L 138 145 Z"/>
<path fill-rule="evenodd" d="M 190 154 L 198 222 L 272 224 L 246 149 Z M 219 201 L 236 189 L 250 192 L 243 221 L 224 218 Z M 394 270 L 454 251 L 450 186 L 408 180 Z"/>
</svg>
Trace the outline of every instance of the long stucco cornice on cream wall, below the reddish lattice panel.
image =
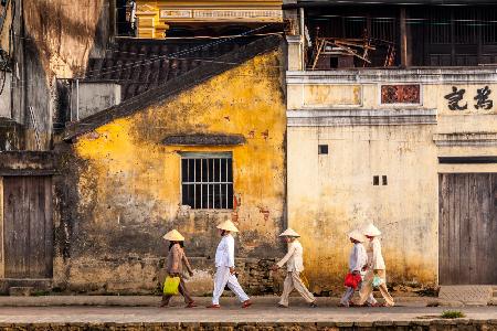
<svg viewBox="0 0 497 331">
<path fill-rule="evenodd" d="M 288 110 L 288 127 L 435 125 L 436 109 Z"/>
</svg>

